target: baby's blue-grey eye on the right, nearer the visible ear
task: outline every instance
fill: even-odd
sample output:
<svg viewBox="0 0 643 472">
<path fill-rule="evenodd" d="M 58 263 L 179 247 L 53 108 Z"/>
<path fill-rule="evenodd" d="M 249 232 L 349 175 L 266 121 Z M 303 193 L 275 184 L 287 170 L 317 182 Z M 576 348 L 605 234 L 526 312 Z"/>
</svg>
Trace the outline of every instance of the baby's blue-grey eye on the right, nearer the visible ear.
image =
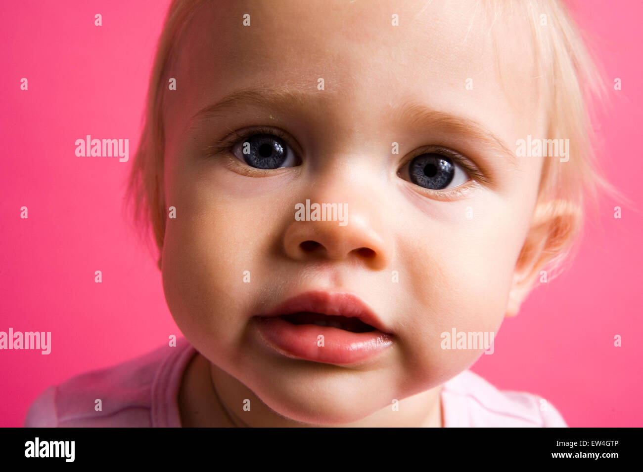
<svg viewBox="0 0 643 472">
<path fill-rule="evenodd" d="M 459 186 L 469 180 L 467 172 L 453 159 L 437 153 L 421 154 L 413 158 L 408 164 L 408 175 L 413 184 L 431 190 L 444 190 L 449 184 Z"/>
</svg>

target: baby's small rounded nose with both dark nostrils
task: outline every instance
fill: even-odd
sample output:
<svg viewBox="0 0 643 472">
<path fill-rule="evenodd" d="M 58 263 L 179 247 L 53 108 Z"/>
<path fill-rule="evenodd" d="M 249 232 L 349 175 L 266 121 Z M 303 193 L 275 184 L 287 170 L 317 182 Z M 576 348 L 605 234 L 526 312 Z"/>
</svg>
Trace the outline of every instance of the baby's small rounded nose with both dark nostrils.
<svg viewBox="0 0 643 472">
<path fill-rule="evenodd" d="M 322 204 L 329 205 L 324 200 L 309 202 L 311 207 L 314 203 L 318 203 L 322 208 Z M 304 213 L 302 210 L 307 210 L 305 205 L 308 205 L 308 202 L 295 205 L 296 209 L 301 211 L 299 216 Z M 343 225 L 330 218 L 321 219 L 323 212 L 316 215 L 320 217 L 317 219 L 314 218 L 314 212 L 311 212 L 309 218 L 298 220 L 295 216 L 296 211 L 293 210 L 293 221 L 284 233 L 284 249 L 287 256 L 297 261 L 358 261 L 372 270 L 388 267 L 392 241 L 381 220 L 382 212 L 377 211 L 377 203 L 352 200 L 338 203 L 338 208 L 339 205 L 345 205 Z M 307 211 L 305 214 L 309 215 Z"/>
</svg>

